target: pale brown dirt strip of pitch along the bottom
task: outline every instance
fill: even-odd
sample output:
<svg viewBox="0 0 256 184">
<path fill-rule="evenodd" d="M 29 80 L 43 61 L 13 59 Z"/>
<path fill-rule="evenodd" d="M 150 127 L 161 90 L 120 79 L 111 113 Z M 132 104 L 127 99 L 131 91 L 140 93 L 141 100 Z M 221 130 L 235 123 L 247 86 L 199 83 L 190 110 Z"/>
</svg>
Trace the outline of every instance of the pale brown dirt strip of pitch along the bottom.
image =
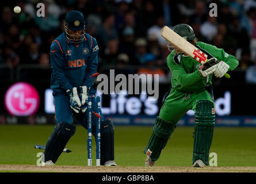
<svg viewBox="0 0 256 184">
<path fill-rule="evenodd" d="M 53 172 L 53 173 L 230 173 L 254 172 L 256 167 L 141 167 L 141 166 L 35 166 L 0 164 L 0 172 Z"/>
</svg>

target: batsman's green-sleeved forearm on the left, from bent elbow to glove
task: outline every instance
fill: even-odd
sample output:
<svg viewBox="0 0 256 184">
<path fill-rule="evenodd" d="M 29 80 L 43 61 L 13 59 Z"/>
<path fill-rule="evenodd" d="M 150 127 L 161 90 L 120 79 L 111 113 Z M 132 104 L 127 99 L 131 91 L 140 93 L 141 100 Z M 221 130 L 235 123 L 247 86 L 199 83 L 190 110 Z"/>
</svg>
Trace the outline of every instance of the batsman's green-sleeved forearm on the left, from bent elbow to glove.
<svg viewBox="0 0 256 184">
<path fill-rule="evenodd" d="M 196 83 L 201 79 L 201 75 L 198 72 L 198 70 L 194 71 L 191 74 L 182 74 L 177 76 L 177 82 L 182 86 L 182 87 L 188 87 Z"/>
</svg>

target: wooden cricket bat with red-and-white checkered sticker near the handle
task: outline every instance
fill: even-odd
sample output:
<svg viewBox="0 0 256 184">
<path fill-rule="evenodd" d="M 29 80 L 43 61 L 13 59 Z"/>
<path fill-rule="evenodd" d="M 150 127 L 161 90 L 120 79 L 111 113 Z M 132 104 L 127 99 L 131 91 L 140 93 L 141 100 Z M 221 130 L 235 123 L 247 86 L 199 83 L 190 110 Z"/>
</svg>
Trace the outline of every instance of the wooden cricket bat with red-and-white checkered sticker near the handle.
<svg viewBox="0 0 256 184">
<path fill-rule="evenodd" d="M 166 40 L 170 41 L 170 43 L 173 44 L 175 47 L 177 47 L 178 49 L 186 53 L 186 55 L 189 55 L 194 60 L 197 60 L 197 62 L 201 64 L 208 62 L 208 59 L 207 59 L 208 56 L 204 52 L 194 47 L 194 45 L 190 44 L 184 38 L 179 36 L 179 34 L 175 33 L 168 26 L 164 26 L 162 28 L 161 35 Z M 229 74 L 225 74 L 224 76 L 228 79 L 230 78 Z"/>
</svg>

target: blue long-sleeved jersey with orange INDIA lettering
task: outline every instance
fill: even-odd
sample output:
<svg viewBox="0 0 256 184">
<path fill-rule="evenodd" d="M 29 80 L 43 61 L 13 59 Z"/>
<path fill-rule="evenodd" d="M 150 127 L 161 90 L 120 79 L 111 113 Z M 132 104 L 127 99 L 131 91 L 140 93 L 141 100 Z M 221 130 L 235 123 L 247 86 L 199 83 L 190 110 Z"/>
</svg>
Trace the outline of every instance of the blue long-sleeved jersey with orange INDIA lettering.
<svg viewBox="0 0 256 184">
<path fill-rule="evenodd" d="M 78 45 L 68 42 L 63 32 L 50 48 L 51 89 L 54 91 L 71 90 L 73 87 L 93 85 L 98 66 L 98 44 L 90 34 Z"/>
</svg>

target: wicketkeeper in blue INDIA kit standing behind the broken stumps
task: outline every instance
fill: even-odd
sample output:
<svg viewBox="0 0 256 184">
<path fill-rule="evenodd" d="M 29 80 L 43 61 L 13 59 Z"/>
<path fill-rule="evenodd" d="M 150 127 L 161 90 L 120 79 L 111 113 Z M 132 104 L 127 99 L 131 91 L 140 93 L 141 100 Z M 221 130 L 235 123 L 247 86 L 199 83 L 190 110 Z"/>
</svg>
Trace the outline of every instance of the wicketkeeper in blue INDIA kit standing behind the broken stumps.
<svg viewBox="0 0 256 184">
<path fill-rule="evenodd" d="M 85 33 L 85 19 L 80 11 L 69 11 L 64 20 L 64 32 L 50 48 L 51 89 L 54 91 L 56 126 L 44 151 L 45 165 L 54 165 L 65 145 L 75 133 L 72 115 L 87 129 L 87 98 L 92 96 L 92 110 L 97 112 L 93 89 L 98 66 L 98 44 Z M 102 114 L 102 113 L 101 113 Z M 101 115 L 102 116 L 102 115 Z M 101 119 L 101 165 L 116 166 L 114 162 L 114 125 Z M 97 117 L 92 116 L 95 136 Z M 86 136 L 85 136 L 86 137 Z"/>
</svg>

